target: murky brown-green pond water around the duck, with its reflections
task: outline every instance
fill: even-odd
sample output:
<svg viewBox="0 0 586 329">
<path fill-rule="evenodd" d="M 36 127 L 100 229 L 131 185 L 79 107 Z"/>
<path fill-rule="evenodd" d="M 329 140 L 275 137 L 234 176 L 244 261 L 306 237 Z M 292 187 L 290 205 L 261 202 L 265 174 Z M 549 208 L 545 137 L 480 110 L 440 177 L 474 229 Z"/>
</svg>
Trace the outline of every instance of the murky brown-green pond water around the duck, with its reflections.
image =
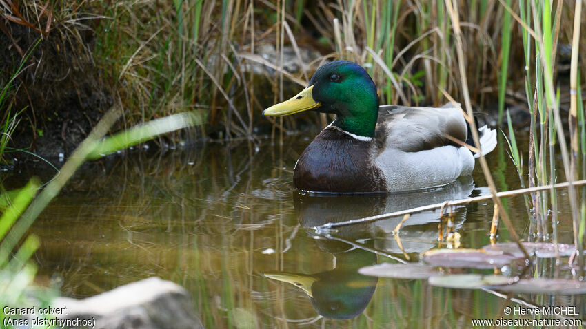
<svg viewBox="0 0 586 329">
<path fill-rule="evenodd" d="M 65 296 L 87 297 L 159 276 L 191 293 L 206 328 L 467 328 L 472 319 L 521 317 L 503 313 L 516 301 L 489 291 L 357 273 L 396 259 L 416 261 L 441 246 L 438 211 L 413 215 L 400 241 L 392 231 L 401 218 L 345 226 L 328 237 L 310 229 L 486 195 L 478 163 L 472 178 L 430 191 L 306 195 L 293 189 L 292 171 L 311 138 L 209 143 L 167 153 L 134 150 L 84 165 L 32 227 L 42 242 L 37 280 L 61 284 Z M 505 145 L 499 140 L 487 157 L 501 191 L 520 187 Z M 52 174 L 21 169 L 3 184 L 20 187 L 30 176 L 47 181 Z M 565 194 L 560 191 L 559 240 L 572 243 Z M 529 240 L 523 198 L 506 204 L 516 232 Z M 453 212 L 461 247 L 489 244 L 492 202 Z M 501 226 L 498 241 L 509 242 Z M 532 270 L 549 273 L 551 265 L 545 259 Z M 469 272 L 494 270 L 452 270 Z M 577 306 L 578 318 L 586 315 L 580 295 L 511 297 L 537 306 Z"/>
</svg>

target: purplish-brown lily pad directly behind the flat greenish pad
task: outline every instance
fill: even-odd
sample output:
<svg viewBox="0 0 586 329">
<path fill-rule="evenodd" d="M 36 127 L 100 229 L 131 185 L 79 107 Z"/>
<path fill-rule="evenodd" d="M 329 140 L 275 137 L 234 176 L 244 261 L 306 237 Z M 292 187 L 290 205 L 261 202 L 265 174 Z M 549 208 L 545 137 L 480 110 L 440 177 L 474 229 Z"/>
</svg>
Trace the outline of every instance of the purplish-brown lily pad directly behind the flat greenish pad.
<svg viewBox="0 0 586 329">
<path fill-rule="evenodd" d="M 452 268 L 494 268 L 510 264 L 519 257 L 505 253 L 487 253 L 481 249 L 432 249 L 421 254 L 432 266 Z"/>
</svg>

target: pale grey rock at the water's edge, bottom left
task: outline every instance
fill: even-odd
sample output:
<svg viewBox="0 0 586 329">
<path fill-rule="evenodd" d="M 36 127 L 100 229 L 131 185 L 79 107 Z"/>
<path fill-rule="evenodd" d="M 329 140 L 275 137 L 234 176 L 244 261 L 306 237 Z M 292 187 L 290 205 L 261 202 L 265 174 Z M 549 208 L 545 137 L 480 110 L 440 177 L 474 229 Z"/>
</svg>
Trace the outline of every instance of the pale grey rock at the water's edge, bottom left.
<svg viewBox="0 0 586 329">
<path fill-rule="evenodd" d="M 159 277 L 119 286 L 83 300 L 60 297 L 55 308 L 65 308 L 63 321 L 90 319 L 93 328 L 192 329 L 203 328 L 185 288 Z M 72 323 L 65 328 L 85 328 Z"/>
</svg>

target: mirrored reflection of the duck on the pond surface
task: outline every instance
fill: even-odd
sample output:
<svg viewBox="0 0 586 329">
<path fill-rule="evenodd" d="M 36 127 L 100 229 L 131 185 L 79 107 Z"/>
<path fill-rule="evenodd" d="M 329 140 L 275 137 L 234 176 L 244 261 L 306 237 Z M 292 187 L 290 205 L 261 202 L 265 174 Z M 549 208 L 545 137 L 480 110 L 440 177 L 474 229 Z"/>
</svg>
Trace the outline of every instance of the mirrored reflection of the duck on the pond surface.
<svg viewBox="0 0 586 329">
<path fill-rule="evenodd" d="M 472 178 L 461 178 L 446 187 L 411 193 L 370 195 L 295 193 L 294 202 L 299 222 L 305 227 L 313 227 L 458 200 L 478 194 L 473 191 Z M 301 288 L 309 296 L 316 312 L 323 317 L 350 319 L 363 312 L 378 282 L 376 277 L 358 274 L 359 268 L 377 262 L 377 255 L 369 249 L 378 248 L 386 253 L 398 255 L 425 251 L 436 244 L 437 225 L 429 224 L 437 223 L 439 219 L 438 211 L 413 214 L 401 229 L 401 237 L 407 237 L 402 249 L 394 242 L 391 235 L 402 217 L 368 224 L 341 226 L 336 228 L 336 237 L 357 242 L 357 244 L 347 244 L 321 236 L 315 236 L 316 239 L 313 240 L 317 248 L 334 256 L 332 270 L 312 274 L 267 272 L 265 276 Z M 464 219 L 465 208 L 458 209 L 454 222 L 456 229 L 461 226 Z M 310 234 L 314 233 L 310 232 Z"/>
</svg>

